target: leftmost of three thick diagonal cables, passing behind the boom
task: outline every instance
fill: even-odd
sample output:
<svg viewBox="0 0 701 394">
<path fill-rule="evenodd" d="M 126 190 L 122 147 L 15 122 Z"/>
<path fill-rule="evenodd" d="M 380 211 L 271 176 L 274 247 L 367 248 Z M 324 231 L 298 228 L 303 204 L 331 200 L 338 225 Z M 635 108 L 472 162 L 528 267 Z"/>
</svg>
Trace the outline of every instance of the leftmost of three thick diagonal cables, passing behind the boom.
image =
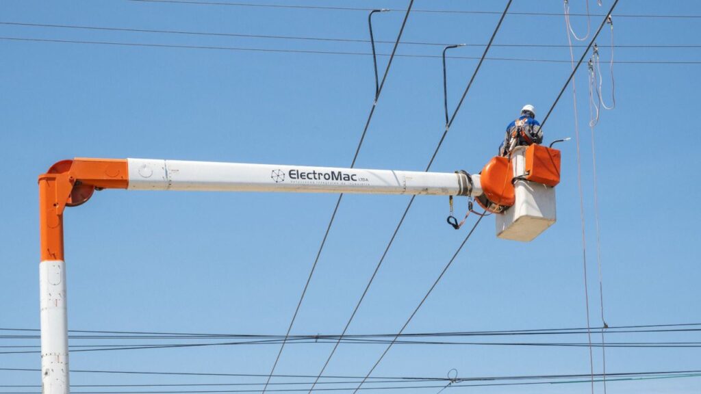
<svg viewBox="0 0 701 394">
<path fill-rule="evenodd" d="M 382 82 L 379 84 L 379 87 L 376 88 L 375 92 L 375 97 L 372 102 L 372 107 L 370 109 L 370 113 L 367 116 L 367 121 L 365 122 L 365 128 L 362 130 L 362 135 L 360 136 L 360 141 L 358 142 L 358 148 L 355 149 L 355 155 L 353 155 L 353 162 L 351 163 L 351 168 L 355 167 L 355 161 L 358 159 L 358 154 L 360 153 L 360 147 L 362 147 L 362 142 L 365 140 L 365 134 L 367 133 L 367 128 L 370 125 L 370 121 L 372 120 L 372 115 L 375 113 L 375 108 L 377 107 L 377 100 L 379 100 L 380 93 L 382 92 L 382 88 L 385 85 L 385 81 L 387 79 L 387 74 L 390 72 L 390 67 L 392 66 L 392 60 L 394 60 L 395 53 L 397 52 L 397 47 L 399 46 L 400 40 L 402 39 L 402 33 L 404 33 L 404 27 L 407 25 L 407 20 L 409 19 L 409 13 L 411 13 L 411 7 L 414 6 L 414 0 L 409 0 L 409 6 L 407 6 L 407 12 L 404 14 L 404 20 L 402 20 L 402 27 L 400 27 L 399 33 L 397 34 L 397 40 L 395 41 L 394 48 L 392 49 L 392 55 L 390 55 L 390 59 L 387 63 L 387 67 L 385 69 L 385 74 L 382 76 Z M 372 25 L 371 25 L 372 26 Z M 283 354 L 283 349 L 285 348 L 285 343 L 287 342 L 287 338 L 290 337 L 290 331 L 292 331 L 292 326 L 294 325 L 294 320 L 297 319 L 297 313 L 299 313 L 299 308 L 302 304 L 302 301 L 304 301 L 304 296 L 306 295 L 306 291 L 309 287 L 309 283 L 311 282 L 311 278 L 314 275 L 314 270 L 316 269 L 316 265 L 319 261 L 319 257 L 321 256 L 322 250 L 324 250 L 324 245 L 326 245 L 326 240 L 329 236 L 329 231 L 331 231 L 331 226 L 334 224 L 334 219 L 336 218 L 336 212 L 339 210 L 339 205 L 341 205 L 341 199 L 343 198 L 343 193 L 339 194 L 339 198 L 336 200 L 336 206 L 334 207 L 334 212 L 331 215 L 331 219 L 329 219 L 329 224 L 326 227 L 326 231 L 324 233 L 324 238 L 321 241 L 321 245 L 319 246 L 319 250 L 316 254 L 316 257 L 314 259 L 314 264 L 312 264 L 311 270 L 309 271 L 309 276 L 307 277 L 306 283 L 304 284 L 304 290 L 302 290 L 301 296 L 299 297 L 299 302 L 297 302 L 297 308 L 294 310 L 294 315 L 292 315 L 292 320 L 290 320 L 290 325 L 287 327 L 287 333 L 285 333 L 285 339 L 283 340 L 283 344 L 280 345 L 280 351 L 278 351 L 278 355 L 275 356 L 275 362 L 273 363 L 273 367 L 271 368 L 270 375 L 268 376 L 268 380 L 266 381 L 266 385 L 263 388 L 263 394 L 265 394 L 266 389 L 268 388 L 268 383 L 270 383 L 270 380 L 273 376 L 273 373 L 275 372 L 275 367 L 278 366 L 278 362 L 280 361 L 280 355 Z"/>
</svg>

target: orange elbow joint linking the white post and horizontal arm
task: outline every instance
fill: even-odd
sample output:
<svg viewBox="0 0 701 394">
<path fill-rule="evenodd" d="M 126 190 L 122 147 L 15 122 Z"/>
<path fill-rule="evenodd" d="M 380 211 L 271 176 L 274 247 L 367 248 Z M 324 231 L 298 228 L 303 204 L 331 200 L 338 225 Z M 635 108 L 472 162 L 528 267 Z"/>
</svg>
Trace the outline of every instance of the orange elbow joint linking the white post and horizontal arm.
<svg viewBox="0 0 701 394">
<path fill-rule="evenodd" d="M 95 190 L 126 189 L 126 160 L 75 158 L 59 161 L 39 175 L 41 260 L 63 260 L 63 210 L 88 201 Z"/>
</svg>

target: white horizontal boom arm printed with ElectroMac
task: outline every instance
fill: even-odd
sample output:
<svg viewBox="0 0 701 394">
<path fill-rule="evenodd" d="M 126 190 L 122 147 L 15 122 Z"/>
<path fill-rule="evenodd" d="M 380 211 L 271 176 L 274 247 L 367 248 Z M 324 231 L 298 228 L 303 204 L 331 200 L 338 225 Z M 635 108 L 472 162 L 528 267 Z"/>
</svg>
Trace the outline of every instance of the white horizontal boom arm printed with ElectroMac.
<svg viewBox="0 0 701 394">
<path fill-rule="evenodd" d="M 479 196 L 479 175 L 130 158 L 129 189 Z"/>
</svg>

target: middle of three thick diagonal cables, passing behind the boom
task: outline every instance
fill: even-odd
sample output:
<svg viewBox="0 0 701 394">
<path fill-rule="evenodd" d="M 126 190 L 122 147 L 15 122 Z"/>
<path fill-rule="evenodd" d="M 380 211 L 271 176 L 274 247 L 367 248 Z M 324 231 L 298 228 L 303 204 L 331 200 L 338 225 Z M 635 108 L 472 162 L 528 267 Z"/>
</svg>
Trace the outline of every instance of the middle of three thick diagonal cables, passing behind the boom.
<svg viewBox="0 0 701 394">
<path fill-rule="evenodd" d="M 458 114 L 458 111 L 460 111 L 460 108 L 463 104 L 463 100 L 465 100 L 465 96 L 468 95 L 468 92 L 470 91 L 470 87 L 472 87 L 472 82 L 475 81 L 475 76 L 477 76 L 477 72 L 479 72 L 480 67 L 482 67 L 482 62 L 484 62 L 484 57 L 486 57 L 487 52 L 489 52 L 489 48 L 491 47 L 491 43 L 494 42 L 494 37 L 496 36 L 496 33 L 499 31 L 499 28 L 501 27 L 501 23 L 503 22 L 504 17 L 506 16 L 506 13 L 509 10 L 509 7 L 511 6 L 511 2 L 512 2 L 512 0 L 508 0 L 508 3 L 506 4 L 506 6 L 504 8 L 503 13 L 501 14 L 501 18 L 499 18 L 499 22 L 497 23 L 496 27 L 494 28 L 494 32 L 491 34 L 491 37 L 489 39 L 489 43 L 487 44 L 486 48 L 484 48 L 484 53 L 482 53 L 482 58 L 479 60 L 479 63 L 477 63 L 477 67 L 475 67 L 475 71 L 472 72 L 472 76 L 470 77 L 470 82 L 468 83 L 468 86 L 465 87 L 465 91 L 463 92 L 463 96 L 461 97 L 460 102 L 458 102 L 458 106 L 456 107 L 455 111 L 453 112 L 453 116 L 451 116 L 450 121 L 448 121 L 446 123 L 445 130 L 443 131 L 443 135 L 441 136 L 440 141 L 438 142 L 435 150 L 433 151 L 433 156 L 431 156 L 430 161 L 428 161 L 428 165 L 426 165 L 426 170 L 424 170 L 424 172 L 428 172 L 428 170 L 430 170 L 430 168 L 431 168 L 431 165 L 433 165 L 433 161 L 435 160 L 435 157 L 438 154 L 438 151 L 440 150 L 440 147 L 442 146 L 443 141 L 445 140 L 445 136 L 448 134 L 448 131 L 450 130 L 450 126 L 452 125 L 452 123 L 455 119 L 455 116 Z M 360 305 L 362 304 L 362 301 L 365 299 L 365 296 L 367 295 L 367 292 L 368 292 L 370 286 L 372 285 L 372 283 L 375 279 L 375 276 L 377 275 L 377 272 L 379 271 L 380 267 L 382 266 L 382 263 L 383 263 L 385 257 L 387 256 L 387 253 L 389 252 L 390 247 L 392 247 L 394 240 L 397 237 L 397 233 L 399 232 L 399 229 L 402 227 L 402 224 L 404 224 L 404 219 L 407 217 L 407 213 L 409 213 L 409 209 L 411 209 L 411 205 L 414 203 L 414 198 L 416 198 L 416 195 L 411 196 L 411 199 L 409 199 L 409 203 L 407 203 L 407 208 L 404 209 L 404 213 L 402 214 L 402 217 L 401 217 L 399 223 L 397 223 L 397 226 L 395 227 L 395 230 L 392 233 L 392 237 L 390 238 L 389 242 L 387 243 L 387 247 L 385 247 L 385 250 L 382 253 L 382 256 L 380 257 L 379 261 L 377 262 L 377 265 L 375 266 L 375 269 L 372 273 L 372 276 L 370 276 L 370 279 L 368 280 L 367 285 L 365 285 L 365 289 L 363 290 L 362 295 L 360 296 L 360 299 L 358 299 L 358 303 L 355 304 L 355 308 L 353 308 L 353 313 L 351 313 L 351 317 L 348 318 L 348 322 L 346 322 L 346 327 L 343 327 L 343 332 L 341 332 L 341 335 L 339 336 L 338 341 L 336 341 L 334 348 L 332 349 L 331 353 L 329 353 L 328 358 L 324 362 L 324 365 L 321 368 L 321 371 L 319 372 L 319 375 L 318 375 L 316 381 L 318 381 L 320 379 L 320 376 L 322 376 L 322 374 L 326 370 L 326 367 L 329 365 L 329 362 L 331 362 L 331 359 L 333 358 L 334 354 L 336 353 L 336 349 L 339 348 L 339 344 L 341 344 L 341 339 L 343 339 L 343 336 L 348 331 L 348 327 L 351 326 L 351 322 L 353 322 L 353 319 L 355 318 L 355 314 L 358 313 L 358 308 L 360 308 Z M 482 217 L 480 217 L 479 220 L 477 220 L 477 223 L 479 223 L 479 221 L 481 219 L 482 219 Z M 477 226 L 477 224 L 475 224 L 475 226 Z M 466 237 L 465 241 L 463 241 L 463 245 L 465 244 L 465 242 L 467 242 L 468 238 L 470 238 L 470 234 L 472 234 L 472 231 L 474 231 L 474 230 L 475 230 L 475 227 L 472 227 L 472 230 L 468 234 L 468 237 Z M 462 245 L 461 245 L 461 248 L 462 248 Z M 460 249 L 458 248 L 458 251 L 459 250 Z M 451 259 L 451 262 L 452 262 L 452 259 Z M 450 263 L 448 264 L 448 266 L 449 265 L 450 265 Z M 428 294 L 427 294 L 427 297 L 428 297 Z M 422 304 L 423 304 L 423 301 L 422 301 Z M 411 319 L 409 319 L 409 320 L 411 320 Z M 408 324 L 408 322 L 407 322 L 407 324 Z M 402 328 L 402 331 L 404 331 L 403 328 Z M 396 341 L 400 334 L 402 334 L 402 332 L 397 333 L 397 335 L 395 335 L 393 341 Z M 390 346 L 391 346 L 391 344 L 390 344 Z M 374 367 L 373 367 L 373 369 L 374 369 Z M 363 382 L 365 382 L 365 379 L 363 379 Z M 362 383 L 361 383 L 361 385 L 362 385 Z M 311 394 L 312 390 L 314 389 L 314 386 L 315 385 L 312 385 L 311 388 L 309 389 L 310 394 Z M 360 387 L 360 386 L 358 386 L 358 387 Z"/>
</svg>

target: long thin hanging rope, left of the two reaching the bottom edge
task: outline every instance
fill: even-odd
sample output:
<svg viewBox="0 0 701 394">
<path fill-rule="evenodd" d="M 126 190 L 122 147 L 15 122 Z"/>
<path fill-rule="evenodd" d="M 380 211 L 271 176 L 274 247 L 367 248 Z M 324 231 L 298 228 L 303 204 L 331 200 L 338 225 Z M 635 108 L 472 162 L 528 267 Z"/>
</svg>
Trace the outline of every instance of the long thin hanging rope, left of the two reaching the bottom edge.
<svg viewBox="0 0 701 394">
<path fill-rule="evenodd" d="M 565 8 L 567 9 L 567 0 L 565 0 Z M 571 39 L 571 28 L 569 25 L 569 18 L 567 16 L 567 11 L 565 13 L 565 25 L 567 33 L 567 42 L 569 43 L 570 59 L 572 70 L 574 72 L 574 52 L 572 47 Z M 576 38 L 576 37 L 575 37 Z M 577 186 L 579 189 L 579 208 L 580 208 L 580 219 L 582 223 L 582 261 L 583 261 L 583 271 L 584 271 L 584 298 L 585 306 L 587 308 L 587 339 L 589 341 L 589 366 L 592 381 L 592 394 L 594 394 L 594 352 L 592 350 L 592 330 L 590 325 L 589 316 L 589 285 L 587 283 L 587 237 L 585 234 L 585 219 L 584 219 L 584 193 L 582 191 L 582 160 L 580 154 L 580 138 L 579 138 L 579 119 L 577 112 L 577 84 L 575 76 L 572 76 L 572 100 L 574 104 L 574 130 L 577 142 Z"/>
</svg>

